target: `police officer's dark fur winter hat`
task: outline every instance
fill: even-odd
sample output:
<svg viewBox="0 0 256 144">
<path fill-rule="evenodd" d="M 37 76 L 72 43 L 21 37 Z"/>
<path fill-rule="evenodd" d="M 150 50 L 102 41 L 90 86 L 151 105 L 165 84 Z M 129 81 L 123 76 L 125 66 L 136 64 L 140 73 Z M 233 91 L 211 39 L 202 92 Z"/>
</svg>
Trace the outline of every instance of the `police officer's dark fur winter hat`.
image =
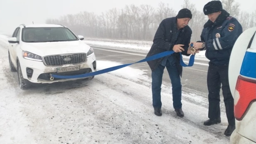
<svg viewBox="0 0 256 144">
<path fill-rule="evenodd" d="M 203 13 L 205 15 L 212 14 L 214 12 L 219 12 L 221 11 L 222 8 L 222 3 L 220 0 L 213 0 L 208 2 L 204 7 L 203 7 Z"/>
</svg>

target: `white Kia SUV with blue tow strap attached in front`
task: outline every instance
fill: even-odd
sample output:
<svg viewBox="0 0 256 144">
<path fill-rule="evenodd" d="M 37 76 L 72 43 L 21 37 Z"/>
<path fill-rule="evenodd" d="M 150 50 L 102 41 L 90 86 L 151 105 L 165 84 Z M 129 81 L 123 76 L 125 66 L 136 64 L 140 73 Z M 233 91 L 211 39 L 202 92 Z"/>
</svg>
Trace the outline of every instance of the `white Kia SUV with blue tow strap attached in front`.
<svg viewBox="0 0 256 144">
<path fill-rule="evenodd" d="M 8 39 L 8 54 L 10 70 L 18 73 L 19 87 L 76 80 L 53 79 L 51 74 L 70 76 L 97 71 L 94 51 L 83 39 L 59 24 L 18 26 Z"/>
</svg>

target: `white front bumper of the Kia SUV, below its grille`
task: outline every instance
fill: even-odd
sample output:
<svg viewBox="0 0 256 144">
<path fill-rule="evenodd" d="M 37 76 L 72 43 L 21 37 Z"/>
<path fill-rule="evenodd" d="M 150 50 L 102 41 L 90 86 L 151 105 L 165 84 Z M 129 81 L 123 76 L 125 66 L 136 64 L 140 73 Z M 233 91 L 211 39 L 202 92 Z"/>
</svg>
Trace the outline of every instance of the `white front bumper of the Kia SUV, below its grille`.
<svg viewBox="0 0 256 144">
<path fill-rule="evenodd" d="M 51 74 L 55 75 L 78 75 L 85 74 L 89 72 L 97 71 L 97 61 L 94 53 L 87 57 L 85 63 L 80 64 L 67 64 L 61 66 L 46 66 L 43 62 L 38 62 L 34 60 L 27 60 L 24 58 L 19 58 L 19 63 L 22 70 L 22 75 L 24 79 L 27 79 L 31 83 L 54 83 L 54 82 L 63 82 L 63 81 L 71 81 L 77 79 L 53 79 L 50 80 Z M 80 70 L 70 71 L 70 72 L 57 72 L 57 68 L 59 67 L 71 67 L 71 66 L 79 66 Z M 28 70 L 30 70 L 28 72 Z M 31 74 L 32 72 L 32 74 Z"/>
</svg>

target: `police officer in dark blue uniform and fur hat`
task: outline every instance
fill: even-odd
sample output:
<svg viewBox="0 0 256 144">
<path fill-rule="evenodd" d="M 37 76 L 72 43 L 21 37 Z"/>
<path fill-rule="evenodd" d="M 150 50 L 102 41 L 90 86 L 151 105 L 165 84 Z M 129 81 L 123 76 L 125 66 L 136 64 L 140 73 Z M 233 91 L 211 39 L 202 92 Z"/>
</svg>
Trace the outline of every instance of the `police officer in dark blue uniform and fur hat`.
<svg viewBox="0 0 256 144">
<path fill-rule="evenodd" d="M 230 136 L 235 129 L 234 99 L 230 92 L 228 80 L 229 58 L 242 26 L 229 13 L 222 9 L 219 0 L 208 2 L 203 12 L 209 20 L 205 23 L 201 34 L 201 41 L 193 43 L 195 49 L 205 50 L 205 56 L 210 60 L 207 74 L 209 111 L 204 125 L 221 122 L 220 119 L 220 88 L 226 107 L 228 126 L 225 135 Z"/>
</svg>

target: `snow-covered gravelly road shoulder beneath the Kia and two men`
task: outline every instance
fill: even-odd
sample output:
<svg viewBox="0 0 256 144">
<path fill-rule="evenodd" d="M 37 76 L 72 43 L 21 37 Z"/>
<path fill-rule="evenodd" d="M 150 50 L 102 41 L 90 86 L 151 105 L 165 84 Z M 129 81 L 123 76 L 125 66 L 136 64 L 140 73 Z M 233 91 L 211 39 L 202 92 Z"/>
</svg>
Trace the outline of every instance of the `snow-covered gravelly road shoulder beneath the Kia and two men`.
<svg viewBox="0 0 256 144">
<path fill-rule="evenodd" d="M 1 144 L 229 143 L 223 135 L 225 113 L 219 125 L 203 125 L 207 99 L 183 100 L 185 116 L 179 118 L 171 92 L 163 91 L 163 115 L 155 116 L 150 77 L 136 68 L 124 67 L 91 81 L 36 85 L 23 91 L 17 73 L 10 72 L 7 44 L 7 37 L 1 35 Z M 98 65 L 103 69 L 118 63 L 99 60 Z"/>
</svg>

